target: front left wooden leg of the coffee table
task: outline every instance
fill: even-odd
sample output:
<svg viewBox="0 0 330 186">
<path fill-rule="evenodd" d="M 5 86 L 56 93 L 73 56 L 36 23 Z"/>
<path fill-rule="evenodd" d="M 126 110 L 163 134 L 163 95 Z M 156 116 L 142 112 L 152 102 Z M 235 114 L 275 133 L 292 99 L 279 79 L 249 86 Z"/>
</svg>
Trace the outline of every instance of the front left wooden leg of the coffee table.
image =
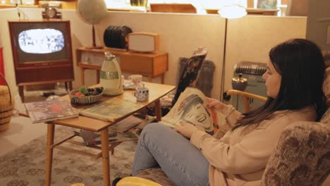
<svg viewBox="0 0 330 186">
<path fill-rule="evenodd" d="M 46 149 L 46 185 L 51 183 L 51 163 L 53 161 L 53 147 L 54 144 L 54 124 L 47 124 L 47 149 Z"/>
</svg>

